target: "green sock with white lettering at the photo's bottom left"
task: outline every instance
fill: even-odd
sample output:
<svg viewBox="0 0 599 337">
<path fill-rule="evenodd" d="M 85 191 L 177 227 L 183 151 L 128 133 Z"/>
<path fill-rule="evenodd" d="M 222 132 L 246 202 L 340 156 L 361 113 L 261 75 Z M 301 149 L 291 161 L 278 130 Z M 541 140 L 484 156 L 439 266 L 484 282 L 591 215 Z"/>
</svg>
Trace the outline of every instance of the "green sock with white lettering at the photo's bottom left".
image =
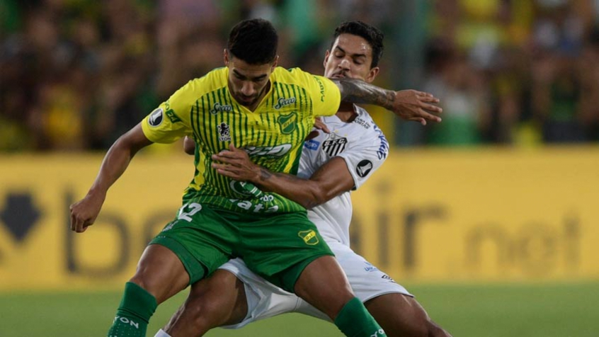
<svg viewBox="0 0 599 337">
<path fill-rule="evenodd" d="M 108 337 L 145 337 L 149 318 L 158 307 L 156 298 L 133 282 L 125 284 Z"/>
</svg>

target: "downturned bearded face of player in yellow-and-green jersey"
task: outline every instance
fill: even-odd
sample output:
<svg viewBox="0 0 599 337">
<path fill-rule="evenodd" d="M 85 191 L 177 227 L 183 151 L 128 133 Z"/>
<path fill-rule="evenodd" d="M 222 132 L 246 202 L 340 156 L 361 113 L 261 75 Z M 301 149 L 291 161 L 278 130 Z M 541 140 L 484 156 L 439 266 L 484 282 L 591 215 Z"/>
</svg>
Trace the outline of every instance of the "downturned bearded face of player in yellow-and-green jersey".
<svg viewBox="0 0 599 337">
<path fill-rule="evenodd" d="M 224 64 L 229 68 L 229 91 L 239 104 L 256 108 L 268 90 L 270 74 L 277 67 L 275 62 L 268 64 L 248 64 L 224 51 Z M 278 57 L 277 57 L 278 58 Z"/>
</svg>

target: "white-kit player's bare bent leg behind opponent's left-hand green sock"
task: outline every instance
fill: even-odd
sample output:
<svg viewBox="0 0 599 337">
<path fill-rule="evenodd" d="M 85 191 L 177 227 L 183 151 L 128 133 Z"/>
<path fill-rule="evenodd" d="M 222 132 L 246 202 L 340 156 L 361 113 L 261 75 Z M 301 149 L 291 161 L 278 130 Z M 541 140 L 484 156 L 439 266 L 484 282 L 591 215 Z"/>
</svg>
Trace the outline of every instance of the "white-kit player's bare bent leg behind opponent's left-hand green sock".
<svg viewBox="0 0 599 337">
<path fill-rule="evenodd" d="M 217 326 L 239 323 L 247 312 L 244 283 L 219 269 L 191 286 L 186 302 L 156 337 L 203 336 Z"/>
</svg>

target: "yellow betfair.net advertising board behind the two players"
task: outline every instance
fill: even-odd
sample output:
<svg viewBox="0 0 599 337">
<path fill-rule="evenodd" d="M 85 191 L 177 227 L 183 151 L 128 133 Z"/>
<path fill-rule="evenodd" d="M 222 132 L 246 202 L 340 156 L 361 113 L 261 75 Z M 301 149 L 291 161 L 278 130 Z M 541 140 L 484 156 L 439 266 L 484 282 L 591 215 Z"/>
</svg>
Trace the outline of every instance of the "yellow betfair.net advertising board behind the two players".
<svg viewBox="0 0 599 337">
<path fill-rule="evenodd" d="M 101 155 L 0 157 L 0 290 L 119 288 L 175 217 L 190 157 L 139 154 L 69 229 Z M 350 168 L 355 169 L 355 168 Z M 599 148 L 392 149 L 353 193 L 353 249 L 397 280 L 599 279 Z"/>
</svg>

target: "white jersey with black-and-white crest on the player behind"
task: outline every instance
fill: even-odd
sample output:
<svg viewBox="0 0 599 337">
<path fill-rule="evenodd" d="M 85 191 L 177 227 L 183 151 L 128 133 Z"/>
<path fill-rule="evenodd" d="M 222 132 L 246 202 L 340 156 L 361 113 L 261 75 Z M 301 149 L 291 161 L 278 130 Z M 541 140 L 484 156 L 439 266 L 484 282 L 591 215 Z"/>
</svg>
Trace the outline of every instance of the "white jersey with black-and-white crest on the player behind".
<svg viewBox="0 0 599 337">
<path fill-rule="evenodd" d="M 323 117 L 331 133 L 304 143 L 297 176 L 310 178 L 323 164 L 335 156 L 346 161 L 353 177 L 354 190 L 359 188 L 387 159 L 389 143 L 363 108 L 354 105 L 358 116 L 353 122 L 343 122 L 336 115 Z M 350 192 L 338 195 L 323 205 L 308 210 L 323 239 L 350 245 L 349 225 L 352 216 Z"/>
</svg>

